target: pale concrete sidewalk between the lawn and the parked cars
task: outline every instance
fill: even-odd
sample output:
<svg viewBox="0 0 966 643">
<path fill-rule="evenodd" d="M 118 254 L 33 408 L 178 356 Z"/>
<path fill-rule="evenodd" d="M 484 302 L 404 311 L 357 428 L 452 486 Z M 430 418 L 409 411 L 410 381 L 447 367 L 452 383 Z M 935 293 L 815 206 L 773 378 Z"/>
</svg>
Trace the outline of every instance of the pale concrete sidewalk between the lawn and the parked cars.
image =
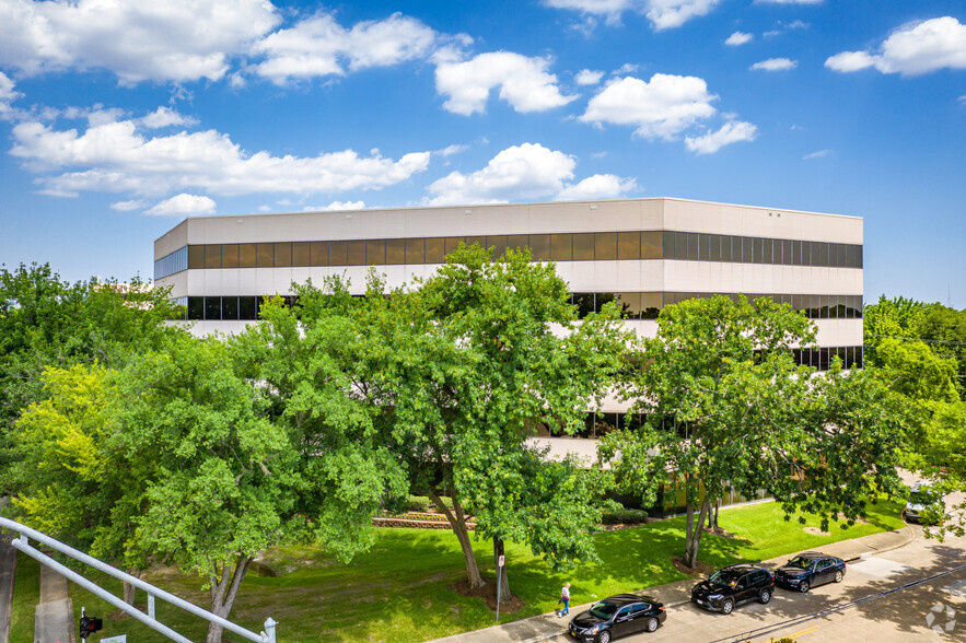
<svg viewBox="0 0 966 643">
<path fill-rule="evenodd" d="M 824 553 L 835 556 L 846 561 L 854 561 L 860 558 L 874 556 L 884 551 L 898 549 L 911 542 L 915 534 L 910 527 L 896 529 L 895 531 L 883 531 L 881 534 L 872 534 L 856 538 L 854 540 L 840 540 L 831 545 L 823 546 L 820 549 Z M 769 569 L 778 568 L 794 554 L 785 554 L 780 558 L 764 561 L 763 565 Z M 666 585 L 657 587 L 648 587 L 641 589 L 640 594 L 648 594 L 657 598 L 666 607 L 677 607 L 688 603 L 691 597 L 691 587 L 697 583 L 697 578 L 686 578 L 684 581 L 675 581 Z M 585 609 L 590 609 L 592 603 L 586 605 L 571 606 L 570 613 L 577 615 Z M 476 630 L 474 632 L 464 632 L 454 634 L 445 639 L 437 639 L 435 643 L 538 643 L 542 641 L 567 641 L 572 642 L 567 635 L 567 626 L 570 617 L 558 617 L 556 613 L 544 613 L 528 619 L 523 619 L 512 623 L 502 626 L 493 626 L 485 630 Z"/>
</svg>

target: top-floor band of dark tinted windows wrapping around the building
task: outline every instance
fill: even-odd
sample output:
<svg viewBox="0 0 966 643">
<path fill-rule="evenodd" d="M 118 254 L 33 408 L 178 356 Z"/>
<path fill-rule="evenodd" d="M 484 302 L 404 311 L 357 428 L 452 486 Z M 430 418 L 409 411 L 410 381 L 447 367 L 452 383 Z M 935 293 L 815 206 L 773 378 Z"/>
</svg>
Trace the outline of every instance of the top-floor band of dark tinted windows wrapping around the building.
<svg viewBox="0 0 966 643">
<path fill-rule="evenodd" d="M 862 246 L 856 244 L 645 231 L 193 245 L 154 261 L 154 279 L 205 268 L 442 264 L 461 243 L 492 247 L 494 256 L 528 247 L 536 261 L 676 259 L 862 267 Z"/>
</svg>

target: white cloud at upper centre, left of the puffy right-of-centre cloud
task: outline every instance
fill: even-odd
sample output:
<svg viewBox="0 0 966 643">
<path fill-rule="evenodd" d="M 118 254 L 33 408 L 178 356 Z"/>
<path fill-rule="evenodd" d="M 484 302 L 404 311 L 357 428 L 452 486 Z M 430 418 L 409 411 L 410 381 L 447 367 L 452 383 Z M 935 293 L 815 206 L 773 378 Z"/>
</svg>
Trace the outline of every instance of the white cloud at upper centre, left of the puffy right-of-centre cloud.
<svg viewBox="0 0 966 643">
<path fill-rule="evenodd" d="M 443 107 L 466 116 L 485 112 L 494 87 L 500 87 L 500 98 L 516 112 L 546 112 L 577 98 L 560 93 L 557 77 L 547 72 L 549 66 L 546 58 L 527 58 L 510 51 L 480 54 L 463 62 L 440 59 L 437 92 L 449 96 Z"/>
</svg>

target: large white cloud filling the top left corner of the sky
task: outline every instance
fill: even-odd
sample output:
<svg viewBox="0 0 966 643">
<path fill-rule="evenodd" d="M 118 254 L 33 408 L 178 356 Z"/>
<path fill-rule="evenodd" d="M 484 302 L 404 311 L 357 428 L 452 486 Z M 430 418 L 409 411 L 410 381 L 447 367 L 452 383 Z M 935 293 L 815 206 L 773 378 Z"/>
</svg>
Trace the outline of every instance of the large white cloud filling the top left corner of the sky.
<svg viewBox="0 0 966 643">
<path fill-rule="evenodd" d="M 218 80 L 278 22 L 264 0 L 2 0 L 0 66 L 27 75 L 106 69 L 127 84 Z"/>
</svg>

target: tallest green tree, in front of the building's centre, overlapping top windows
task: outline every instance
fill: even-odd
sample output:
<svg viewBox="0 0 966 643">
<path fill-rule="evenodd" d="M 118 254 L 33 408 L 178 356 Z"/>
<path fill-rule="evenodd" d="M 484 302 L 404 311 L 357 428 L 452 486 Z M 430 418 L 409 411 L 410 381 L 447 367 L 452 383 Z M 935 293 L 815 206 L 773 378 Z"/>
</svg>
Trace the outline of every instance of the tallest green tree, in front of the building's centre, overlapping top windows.
<svg viewBox="0 0 966 643">
<path fill-rule="evenodd" d="M 468 512 L 494 556 L 504 539 L 529 543 L 555 566 L 593 556 L 601 478 L 547 461 L 527 439 L 538 425 L 581 429 L 628 339 L 613 304 L 578 323 L 569 300 L 552 265 L 512 250 L 492 261 L 473 246 L 414 290 L 386 297 L 371 280 L 360 309 L 358 372 L 391 416 L 414 490 L 449 519 L 470 587 L 484 581 Z"/>
</svg>

